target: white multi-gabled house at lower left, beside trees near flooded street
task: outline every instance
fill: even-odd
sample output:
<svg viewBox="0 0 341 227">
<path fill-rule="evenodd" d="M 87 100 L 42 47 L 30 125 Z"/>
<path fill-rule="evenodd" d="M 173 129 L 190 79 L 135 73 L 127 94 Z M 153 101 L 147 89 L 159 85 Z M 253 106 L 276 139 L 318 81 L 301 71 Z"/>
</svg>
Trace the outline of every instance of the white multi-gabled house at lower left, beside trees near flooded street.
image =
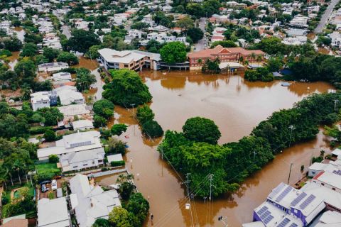
<svg viewBox="0 0 341 227">
<path fill-rule="evenodd" d="M 116 206 L 121 206 L 115 189 L 105 191 L 98 185 L 90 185 L 87 176 L 76 175 L 70 179 L 71 208 L 80 227 L 91 227 L 98 218 L 109 218 Z"/>
</svg>

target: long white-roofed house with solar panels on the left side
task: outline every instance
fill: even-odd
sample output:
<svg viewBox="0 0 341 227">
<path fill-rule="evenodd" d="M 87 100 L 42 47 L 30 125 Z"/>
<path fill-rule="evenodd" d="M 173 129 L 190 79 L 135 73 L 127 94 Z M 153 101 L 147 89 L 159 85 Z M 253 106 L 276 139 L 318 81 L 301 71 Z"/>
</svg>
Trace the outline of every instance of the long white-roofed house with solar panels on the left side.
<svg viewBox="0 0 341 227">
<path fill-rule="evenodd" d="M 55 141 L 54 147 L 40 148 L 37 150 L 39 160 L 48 160 L 50 155 L 62 157 L 70 153 L 81 153 L 92 150 L 99 155 L 104 155 L 98 131 L 77 132 L 64 135 L 61 140 Z"/>
</svg>

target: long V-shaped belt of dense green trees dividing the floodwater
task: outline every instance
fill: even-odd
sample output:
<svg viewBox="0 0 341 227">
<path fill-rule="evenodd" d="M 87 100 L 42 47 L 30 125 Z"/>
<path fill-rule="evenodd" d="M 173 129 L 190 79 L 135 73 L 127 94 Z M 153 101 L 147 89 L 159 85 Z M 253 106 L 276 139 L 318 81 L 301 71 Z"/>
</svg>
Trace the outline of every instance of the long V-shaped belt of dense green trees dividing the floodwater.
<svg viewBox="0 0 341 227">
<path fill-rule="evenodd" d="M 339 112 L 340 107 L 335 109 L 334 100 L 340 101 L 341 94 L 308 96 L 292 109 L 274 112 L 259 123 L 251 135 L 224 145 L 197 142 L 186 138 L 185 133 L 167 131 L 158 150 L 176 170 L 191 173 L 190 189 L 197 190 L 197 196 L 209 194 L 209 174 L 212 174 L 215 196 L 233 192 L 240 182 L 260 170 L 283 148 L 315 138 L 319 124 L 330 121 L 330 114 Z M 196 126 L 193 124 L 192 127 Z M 207 132 L 211 133 L 210 130 Z"/>
</svg>

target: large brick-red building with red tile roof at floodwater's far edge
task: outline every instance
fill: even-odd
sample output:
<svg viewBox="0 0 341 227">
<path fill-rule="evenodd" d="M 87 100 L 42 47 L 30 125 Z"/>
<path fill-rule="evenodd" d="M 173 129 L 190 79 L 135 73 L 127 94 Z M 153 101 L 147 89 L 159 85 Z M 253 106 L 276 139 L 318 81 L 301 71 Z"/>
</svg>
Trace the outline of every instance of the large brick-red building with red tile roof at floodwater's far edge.
<svg viewBox="0 0 341 227">
<path fill-rule="evenodd" d="M 200 67 L 197 60 L 201 59 L 202 63 L 205 60 L 215 60 L 219 57 L 220 62 L 238 62 L 240 57 L 248 62 L 254 62 L 256 59 L 251 57 L 252 53 L 254 55 L 261 55 L 264 57 L 265 53 L 261 50 L 245 50 L 244 48 L 223 48 L 221 45 L 217 45 L 215 48 L 201 50 L 198 52 L 191 52 L 188 54 L 188 60 L 190 62 L 190 67 Z"/>
</svg>

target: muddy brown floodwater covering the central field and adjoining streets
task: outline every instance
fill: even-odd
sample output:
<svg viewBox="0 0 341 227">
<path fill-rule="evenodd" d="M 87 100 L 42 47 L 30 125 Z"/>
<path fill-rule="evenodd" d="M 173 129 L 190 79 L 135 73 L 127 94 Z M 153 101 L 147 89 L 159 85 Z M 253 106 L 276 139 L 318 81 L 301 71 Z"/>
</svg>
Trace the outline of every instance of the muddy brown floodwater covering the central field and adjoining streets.
<svg viewBox="0 0 341 227">
<path fill-rule="evenodd" d="M 288 109 L 296 101 L 313 92 L 332 89 L 324 82 L 299 83 L 282 87 L 281 82 L 246 82 L 239 75 L 202 75 L 199 72 L 141 72 L 141 77 L 153 95 L 151 109 L 163 129 L 180 131 L 186 119 L 193 116 L 210 118 L 222 132 L 220 144 L 237 141 L 249 135 L 252 128 L 274 111 Z M 136 110 L 136 109 L 134 109 Z M 310 158 L 320 150 L 328 153 L 328 138 L 322 131 L 315 140 L 293 145 L 283 150 L 262 170 L 249 177 L 235 194 L 225 194 L 211 203 L 196 199 L 190 211 L 185 209 L 185 190 L 180 176 L 161 159 L 156 151 L 158 140 L 147 140 L 141 135 L 132 109 L 115 106 L 112 123 L 126 123 L 129 128 L 121 135 L 129 145 L 124 157 L 126 168 L 135 175 L 141 193 L 149 198 L 150 218 L 144 226 L 224 226 L 218 216 L 227 217 L 229 226 L 242 226 L 252 221 L 252 211 L 280 182 L 290 183 L 301 177 L 301 165 L 308 167 Z M 115 177 L 100 179 L 101 184 L 115 183 Z"/>
</svg>

